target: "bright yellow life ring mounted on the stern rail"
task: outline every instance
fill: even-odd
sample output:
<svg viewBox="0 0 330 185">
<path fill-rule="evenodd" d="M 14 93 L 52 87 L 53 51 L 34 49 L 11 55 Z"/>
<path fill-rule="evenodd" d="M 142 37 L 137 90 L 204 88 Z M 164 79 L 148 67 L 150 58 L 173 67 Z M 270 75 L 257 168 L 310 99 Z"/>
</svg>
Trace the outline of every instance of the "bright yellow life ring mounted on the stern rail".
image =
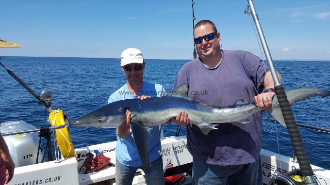
<svg viewBox="0 0 330 185">
<path fill-rule="evenodd" d="M 66 124 L 63 111 L 61 109 L 51 111 L 48 119 L 51 126 L 61 126 Z M 58 147 L 60 148 L 61 154 L 64 158 L 77 156 L 67 127 L 56 129 L 56 138 Z"/>
</svg>

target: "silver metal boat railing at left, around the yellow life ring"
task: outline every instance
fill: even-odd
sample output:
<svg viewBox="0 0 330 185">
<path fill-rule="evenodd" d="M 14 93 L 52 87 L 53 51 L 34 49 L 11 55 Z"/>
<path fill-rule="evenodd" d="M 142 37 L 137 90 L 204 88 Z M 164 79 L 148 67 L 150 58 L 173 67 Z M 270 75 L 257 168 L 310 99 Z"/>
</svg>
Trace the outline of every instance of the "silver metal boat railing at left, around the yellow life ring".
<svg viewBox="0 0 330 185">
<path fill-rule="evenodd" d="M 61 128 L 66 128 L 69 126 L 69 123 L 59 125 L 59 126 L 52 126 L 49 127 L 49 130 L 53 131 L 53 140 L 54 140 L 54 148 L 55 148 L 55 157 L 56 161 L 55 163 L 60 162 L 60 157 L 59 157 L 59 151 L 58 151 L 58 146 L 57 146 L 57 137 L 56 137 L 56 130 L 61 129 Z M 31 129 L 31 130 L 22 130 L 22 131 L 17 131 L 17 132 L 7 132 L 7 133 L 1 133 L 3 137 L 6 136 L 14 136 L 14 135 L 19 135 L 19 134 L 28 134 L 28 133 L 35 133 L 35 132 L 40 132 L 41 129 Z"/>
</svg>

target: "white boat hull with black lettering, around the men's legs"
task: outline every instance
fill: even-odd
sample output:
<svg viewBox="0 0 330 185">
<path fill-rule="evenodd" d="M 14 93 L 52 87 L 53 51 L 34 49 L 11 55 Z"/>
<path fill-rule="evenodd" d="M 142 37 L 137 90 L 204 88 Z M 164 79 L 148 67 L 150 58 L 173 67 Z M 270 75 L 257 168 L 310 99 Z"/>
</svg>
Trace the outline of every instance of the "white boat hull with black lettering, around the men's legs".
<svg viewBox="0 0 330 185">
<path fill-rule="evenodd" d="M 172 143 L 172 147 L 171 147 Z M 89 151 L 99 150 L 115 163 L 116 141 L 92 145 L 76 149 L 77 158 L 84 158 Z M 169 137 L 162 139 L 163 166 L 169 168 L 178 167 L 192 162 L 192 156 L 186 149 L 186 138 Z M 287 156 L 275 154 L 266 150 L 261 151 L 263 182 L 267 184 L 275 173 L 287 172 L 292 168 L 299 168 L 293 159 Z M 167 162 L 169 163 L 167 164 Z M 103 170 L 90 174 L 79 174 L 77 161 L 73 158 L 62 159 L 60 163 L 55 161 L 41 164 L 18 167 L 15 169 L 14 178 L 8 185 L 89 185 L 101 181 L 114 182 L 115 167 L 107 166 Z M 321 185 L 330 184 L 330 170 L 312 165 L 312 169 Z M 186 172 L 186 171 L 182 171 Z M 146 184 L 143 172 L 138 172 L 133 180 L 134 185 Z"/>
</svg>

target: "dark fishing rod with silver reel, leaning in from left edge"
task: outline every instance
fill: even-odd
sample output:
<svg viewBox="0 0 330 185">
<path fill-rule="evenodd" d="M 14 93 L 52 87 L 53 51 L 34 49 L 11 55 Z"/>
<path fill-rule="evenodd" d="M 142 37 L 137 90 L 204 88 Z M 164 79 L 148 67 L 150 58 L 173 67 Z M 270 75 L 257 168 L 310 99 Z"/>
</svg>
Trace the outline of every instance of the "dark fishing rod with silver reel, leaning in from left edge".
<svg viewBox="0 0 330 185">
<path fill-rule="evenodd" d="M 0 59 L 1 59 L 1 57 L 0 57 Z M 15 75 L 15 73 L 13 73 L 11 70 L 9 70 L 1 62 L 0 62 L 0 65 L 8 72 L 9 75 L 14 77 L 14 79 L 16 79 L 16 81 L 19 84 L 21 84 L 29 93 L 31 93 L 35 97 L 35 99 L 37 99 L 39 104 L 42 104 L 43 106 L 45 106 L 49 110 L 49 112 L 52 111 L 52 109 L 50 108 L 50 92 L 49 91 L 44 90 L 41 92 L 40 96 L 38 96 L 36 93 L 33 92 L 33 90 L 28 85 L 26 85 L 19 77 L 17 77 Z"/>
</svg>

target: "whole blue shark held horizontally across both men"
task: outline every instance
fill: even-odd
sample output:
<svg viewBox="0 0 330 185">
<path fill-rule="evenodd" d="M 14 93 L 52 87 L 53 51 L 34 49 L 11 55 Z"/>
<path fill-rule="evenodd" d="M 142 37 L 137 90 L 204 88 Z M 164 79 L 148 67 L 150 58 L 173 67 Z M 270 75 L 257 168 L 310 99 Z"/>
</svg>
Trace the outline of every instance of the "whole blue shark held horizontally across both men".
<svg viewBox="0 0 330 185">
<path fill-rule="evenodd" d="M 248 116 L 261 110 L 254 103 L 245 102 L 242 99 L 229 107 L 210 106 L 191 101 L 187 92 L 188 85 L 182 84 L 163 97 L 116 101 L 75 119 L 71 125 L 115 128 L 122 124 L 126 109 L 129 109 L 135 145 L 143 168 L 148 172 L 150 169 L 146 132 L 149 126 L 163 124 L 176 117 L 179 111 L 184 110 L 189 115 L 190 123 L 197 125 L 201 132 L 207 135 L 210 131 L 217 129 L 216 125 L 220 123 L 248 123 Z M 286 92 L 290 105 L 317 94 L 321 97 L 330 96 L 330 91 L 302 88 Z M 276 95 L 272 100 L 272 108 L 267 111 L 286 127 Z"/>
</svg>

